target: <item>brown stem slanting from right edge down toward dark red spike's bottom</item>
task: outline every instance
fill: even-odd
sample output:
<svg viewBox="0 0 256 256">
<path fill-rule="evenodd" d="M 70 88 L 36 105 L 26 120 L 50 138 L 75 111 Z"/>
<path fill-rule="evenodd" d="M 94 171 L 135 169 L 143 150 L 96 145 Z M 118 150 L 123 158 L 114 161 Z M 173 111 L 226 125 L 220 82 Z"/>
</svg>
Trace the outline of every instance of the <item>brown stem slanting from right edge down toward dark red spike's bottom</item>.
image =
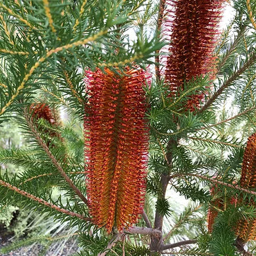
<svg viewBox="0 0 256 256">
<path fill-rule="evenodd" d="M 225 89 L 228 88 L 234 82 L 244 71 L 246 71 L 247 68 L 249 68 L 256 60 L 256 53 L 253 53 L 253 55 L 250 57 L 250 59 L 239 68 L 239 70 L 235 73 L 233 73 L 226 82 L 224 82 L 221 87 L 212 95 L 212 97 L 204 104 L 204 106 L 199 110 L 199 113 L 205 111 L 205 109 L 208 109 L 210 105 L 223 93 Z"/>
</svg>

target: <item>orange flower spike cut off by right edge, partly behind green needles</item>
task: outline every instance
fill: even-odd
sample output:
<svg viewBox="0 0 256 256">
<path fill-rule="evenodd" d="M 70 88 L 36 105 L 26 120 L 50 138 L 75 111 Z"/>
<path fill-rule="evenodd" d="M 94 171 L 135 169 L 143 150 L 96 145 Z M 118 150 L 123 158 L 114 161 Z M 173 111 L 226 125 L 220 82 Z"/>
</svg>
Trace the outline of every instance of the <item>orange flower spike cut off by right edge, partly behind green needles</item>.
<svg viewBox="0 0 256 256">
<path fill-rule="evenodd" d="M 256 133 L 248 138 L 241 166 L 240 185 L 242 188 L 256 188 Z M 255 202 L 249 202 L 255 205 Z M 256 240 L 256 218 L 241 219 L 237 225 L 237 235 L 244 241 Z"/>
</svg>

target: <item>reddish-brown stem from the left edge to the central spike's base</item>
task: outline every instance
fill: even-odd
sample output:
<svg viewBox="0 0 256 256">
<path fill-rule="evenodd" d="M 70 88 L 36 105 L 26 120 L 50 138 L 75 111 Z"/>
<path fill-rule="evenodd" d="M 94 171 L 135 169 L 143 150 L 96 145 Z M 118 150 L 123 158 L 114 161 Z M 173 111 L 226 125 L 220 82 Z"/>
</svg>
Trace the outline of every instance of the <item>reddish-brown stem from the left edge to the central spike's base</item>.
<svg viewBox="0 0 256 256">
<path fill-rule="evenodd" d="M 70 216 L 73 217 L 77 217 L 79 219 L 83 219 L 84 221 L 90 221 L 89 218 L 85 217 L 84 215 L 81 214 L 77 214 L 76 212 L 71 212 L 69 210 L 65 210 L 63 208 L 60 208 L 57 205 L 54 205 L 53 203 L 48 203 L 47 201 L 45 201 L 44 199 L 40 199 L 37 196 L 34 196 L 33 194 L 30 194 L 24 190 L 20 190 L 19 188 L 15 187 L 14 185 L 11 185 L 10 183 L 7 183 L 6 181 L 2 181 L 0 180 L 0 185 L 2 185 L 3 187 L 8 188 L 9 190 L 15 191 L 19 194 L 21 194 L 22 196 L 26 196 L 28 199 L 31 199 L 33 201 L 36 201 L 37 203 L 41 203 L 43 205 L 46 205 L 49 208 L 52 208 L 54 210 L 57 210 L 58 212 L 62 212 L 64 214 L 68 214 Z"/>
</svg>

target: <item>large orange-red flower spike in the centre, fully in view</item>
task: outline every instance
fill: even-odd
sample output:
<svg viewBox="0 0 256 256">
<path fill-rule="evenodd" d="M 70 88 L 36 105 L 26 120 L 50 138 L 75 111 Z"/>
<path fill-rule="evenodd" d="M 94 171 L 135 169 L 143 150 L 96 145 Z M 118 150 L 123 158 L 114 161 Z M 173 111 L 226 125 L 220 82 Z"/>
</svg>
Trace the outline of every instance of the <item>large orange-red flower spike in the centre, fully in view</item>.
<svg viewBox="0 0 256 256">
<path fill-rule="evenodd" d="M 86 190 L 93 223 L 111 232 L 128 228 L 143 212 L 149 130 L 143 70 L 86 71 L 84 118 Z"/>
</svg>

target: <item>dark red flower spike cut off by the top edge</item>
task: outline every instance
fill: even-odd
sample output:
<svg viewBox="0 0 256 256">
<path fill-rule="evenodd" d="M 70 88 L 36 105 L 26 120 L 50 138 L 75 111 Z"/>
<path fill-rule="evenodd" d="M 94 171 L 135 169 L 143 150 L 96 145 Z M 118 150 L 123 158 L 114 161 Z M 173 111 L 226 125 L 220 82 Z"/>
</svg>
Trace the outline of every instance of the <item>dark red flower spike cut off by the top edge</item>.
<svg viewBox="0 0 256 256">
<path fill-rule="evenodd" d="M 165 64 L 165 82 L 170 85 L 170 95 L 184 89 L 184 82 L 193 77 L 210 75 L 214 78 L 216 57 L 213 51 L 217 42 L 218 22 L 223 0 L 167 0 L 167 17 L 163 27 L 170 34 L 169 55 Z M 204 93 L 192 95 L 186 109 L 200 107 Z"/>
</svg>

